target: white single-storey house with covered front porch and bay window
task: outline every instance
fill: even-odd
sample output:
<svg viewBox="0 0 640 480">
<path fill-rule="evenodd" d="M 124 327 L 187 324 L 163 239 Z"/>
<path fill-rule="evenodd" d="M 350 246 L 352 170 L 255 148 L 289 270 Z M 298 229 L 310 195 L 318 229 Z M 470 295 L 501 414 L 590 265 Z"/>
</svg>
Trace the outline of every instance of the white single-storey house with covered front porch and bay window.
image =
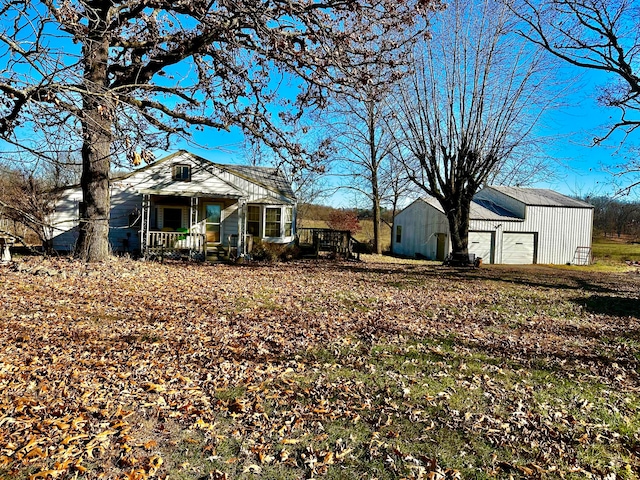
<svg viewBox="0 0 640 480">
<path fill-rule="evenodd" d="M 186 151 L 110 182 L 109 241 L 115 252 L 203 259 L 248 253 L 253 243 L 294 240 L 296 199 L 282 172 L 223 165 Z M 79 186 L 60 192 L 53 246 L 70 251 L 78 237 Z"/>
</svg>

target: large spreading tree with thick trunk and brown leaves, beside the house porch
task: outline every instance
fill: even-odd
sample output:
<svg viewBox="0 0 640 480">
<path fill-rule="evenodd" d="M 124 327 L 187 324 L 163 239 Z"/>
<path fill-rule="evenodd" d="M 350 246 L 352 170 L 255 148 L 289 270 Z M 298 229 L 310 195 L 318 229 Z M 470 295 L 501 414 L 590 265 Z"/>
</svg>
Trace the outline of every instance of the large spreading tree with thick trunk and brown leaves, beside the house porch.
<svg viewBox="0 0 640 480">
<path fill-rule="evenodd" d="M 366 45 L 430 8 L 414 0 L 11 0 L 0 7 L 0 135 L 20 145 L 38 128 L 78 138 L 83 203 L 78 249 L 109 255 L 109 173 L 128 154 L 193 126 L 245 134 L 304 158 L 283 121 L 321 105 L 333 85 L 361 81 L 352 67 L 396 48 Z M 274 117 L 282 76 L 296 105 Z M 277 114 L 280 114 L 278 117 Z M 153 134 L 163 134 L 155 138 Z"/>
</svg>

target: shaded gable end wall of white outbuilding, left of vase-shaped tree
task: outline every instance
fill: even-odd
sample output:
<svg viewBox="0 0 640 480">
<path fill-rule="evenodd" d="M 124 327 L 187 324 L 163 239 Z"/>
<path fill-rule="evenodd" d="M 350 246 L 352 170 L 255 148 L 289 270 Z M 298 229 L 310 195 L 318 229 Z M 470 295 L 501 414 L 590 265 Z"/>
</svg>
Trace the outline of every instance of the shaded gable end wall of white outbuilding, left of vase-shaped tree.
<svg viewBox="0 0 640 480">
<path fill-rule="evenodd" d="M 396 242 L 396 227 L 402 227 L 402 238 Z M 424 256 L 436 258 L 438 248 L 437 234 L 449 235 L 446 216 L 422 199 L 418 199 L 396 215 L 393 221 L 393 252 L 410 257 Z M 445 252 L 449 253 L 449 241 L 445 242 Z"/>
</svg>

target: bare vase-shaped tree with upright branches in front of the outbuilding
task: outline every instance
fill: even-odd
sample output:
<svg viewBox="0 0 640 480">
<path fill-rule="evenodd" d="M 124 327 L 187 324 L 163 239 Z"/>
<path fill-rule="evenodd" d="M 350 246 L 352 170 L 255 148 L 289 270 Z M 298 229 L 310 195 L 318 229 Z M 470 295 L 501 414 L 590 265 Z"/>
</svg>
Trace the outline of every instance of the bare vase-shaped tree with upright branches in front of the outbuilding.
<svg viewBox="0 0 640 480">
<path fill-rule="evenodd" d="M 540 52 L 513 34 L 512 20 L 494 0 L 453 1 L 395 102 L 407 173 L 442 205 L 456 253 L 468 251 L 473 195 L 529 146 L 550 101 Z"/>
</svg>

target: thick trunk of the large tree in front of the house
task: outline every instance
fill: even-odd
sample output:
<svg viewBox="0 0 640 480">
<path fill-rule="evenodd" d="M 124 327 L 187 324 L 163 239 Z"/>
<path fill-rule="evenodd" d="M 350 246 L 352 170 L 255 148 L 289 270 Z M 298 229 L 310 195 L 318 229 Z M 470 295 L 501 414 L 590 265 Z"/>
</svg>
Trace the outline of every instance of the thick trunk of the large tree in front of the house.
<svg viewBox="0 0 640 480">
<path fill-rule="evenodd" d="M 90 32 L 103 29 L 89 26 Z M 101 37 L 87 39 L 83 57 L 84 85 L 82 116 L 82 187 L 80 232 L 76 256 L 86 262 L 100 262 L 110 255 L 109 248 L 109 169 L 111 153 L 111 112 L 107 98 L 108 42 Z"/>
</svg>

